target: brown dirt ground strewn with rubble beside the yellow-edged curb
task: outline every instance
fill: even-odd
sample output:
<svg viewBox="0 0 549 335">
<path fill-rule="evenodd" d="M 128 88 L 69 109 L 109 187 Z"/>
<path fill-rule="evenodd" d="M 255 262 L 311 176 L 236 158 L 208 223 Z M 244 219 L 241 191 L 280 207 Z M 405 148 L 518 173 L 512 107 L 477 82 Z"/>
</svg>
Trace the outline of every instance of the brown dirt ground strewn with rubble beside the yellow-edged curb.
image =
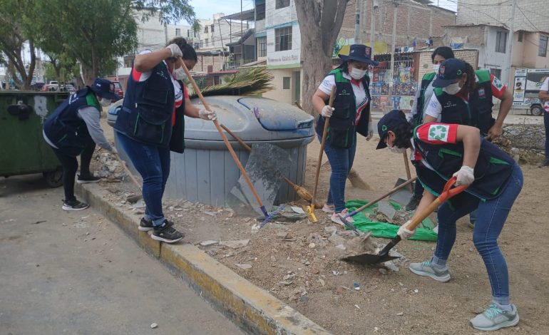
<svg viewBox="0 0 549 335">
<path fill-rule="evenodd" d="M 103 129 L 111 131 L 108 126 Z M 376 142 L 376 138 L 370 142 L 360 138 L 354 163 L 374 190 L 359 190 L 347 182 L 347 200 L 373 200 L 406 175 L 401 155 L 374 150 Z M 318 150 L 317 141 L 309 145 L 308 190 L 312 190 Z M 99 161 L 93 164 L 100 168 Z M 549 169 L 533 165 L 521 168 L 524 187 L 499 239 L 520 323 L 500 334 L 549 334 L 549 321 L 544 316 L 549 307 L 549 247 L 543 234 L 549 217 L 544 201 Z M 328 180 L 329 166 L 324 165 L 319 181 L 321 199 L 326 197 Z M 101 184 L 111 190 L 113 202 L 120 207 L 136 207 L 135 215 L 140 216 L 143 209 L 139 205 L 123 201 L 128 190 L 134 189 L 130 182 Z M 404 241 L 397 245 L 396 250 L 405 256 L 397 264 L 398 272 L 349 264 L 337 260 L 342 250 L 336 246 L 353 235 L 336 227 L 321 210 L 316 213 L 317 224 L 308 220 L 272 222 L 255 230 L 255 219 L 237 217 L 230 210 L 165 199 L 165 214 L 185 232 L 186 242 L 250 239 L 235 249 L 220 244 L 201 248 L 333 334 L 481 334 L 468 320 L 491 302 L 491 291 L 486 269 L 471 240 L 468 218 L 458 222 L 458 237 L 448 260 L 452 279 L 438 283 L 408 269 L 409 262 L 431 257 L 434 242 Z"/>
</svg>

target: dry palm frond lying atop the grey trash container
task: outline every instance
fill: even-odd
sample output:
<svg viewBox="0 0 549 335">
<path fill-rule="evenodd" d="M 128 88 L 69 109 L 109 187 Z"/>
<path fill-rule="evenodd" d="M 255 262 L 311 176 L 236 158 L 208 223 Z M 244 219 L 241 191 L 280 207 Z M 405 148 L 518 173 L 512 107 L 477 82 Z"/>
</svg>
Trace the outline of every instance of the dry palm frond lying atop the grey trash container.
<svg viewBox="0 0 549 335">
<path fill-rule="evenodd" d="M 271 91 L 274 87 L 270 84 L 273 80 L 272 73 L 265 67 L 243 69 L 238 73 L 223 78 L 220 85 L 203 88 L 202 96 L 259 96 Z M 189 93 L 190 98 L 196 98 L 195 92 Z"/>
</svg>

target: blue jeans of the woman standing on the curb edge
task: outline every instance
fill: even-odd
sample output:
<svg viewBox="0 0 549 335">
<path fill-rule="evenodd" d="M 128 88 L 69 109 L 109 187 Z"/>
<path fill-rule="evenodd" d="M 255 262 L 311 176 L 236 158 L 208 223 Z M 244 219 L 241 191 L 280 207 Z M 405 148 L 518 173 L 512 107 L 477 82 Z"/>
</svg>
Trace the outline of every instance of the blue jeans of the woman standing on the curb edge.
<svg viewBox="0 0 549 335">
<path fill-rule="evenodd" d="M 118 143 L 143 177 L 145 219 L 153 220 L 155 226 L 162 225 L 162 197 L 170 175 L 170 148 L 140 143 L 118 132 L 115 134 Z"/>
</svg>

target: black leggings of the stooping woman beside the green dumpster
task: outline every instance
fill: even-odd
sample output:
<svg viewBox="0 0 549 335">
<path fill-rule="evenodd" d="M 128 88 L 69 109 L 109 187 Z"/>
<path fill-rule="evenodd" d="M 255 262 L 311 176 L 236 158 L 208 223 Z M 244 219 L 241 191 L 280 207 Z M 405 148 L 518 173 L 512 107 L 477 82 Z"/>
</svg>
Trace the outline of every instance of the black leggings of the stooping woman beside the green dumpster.
<svg viewBox="0 0 549 335">
<path fill-rule="evenodd" d="M 90 139 L 86 144 L 86 148 L 84 148 L 80 154 L 80 175 L 91 174 L 90 162 L 94 150 L 96 150 L 96 143 Z M 76 160 L 76 157 L 67 155 L 56 148 L 53 148 L 53 152 L 56 153 L 56 156 L 63 167 L 63 190 L 65 191 L 65 201 L 76 200 L 76 197 L 74 196 L 74 177 L 76 177 L 76 170 L 78 170 L 78 160 Z"/>
</svg>

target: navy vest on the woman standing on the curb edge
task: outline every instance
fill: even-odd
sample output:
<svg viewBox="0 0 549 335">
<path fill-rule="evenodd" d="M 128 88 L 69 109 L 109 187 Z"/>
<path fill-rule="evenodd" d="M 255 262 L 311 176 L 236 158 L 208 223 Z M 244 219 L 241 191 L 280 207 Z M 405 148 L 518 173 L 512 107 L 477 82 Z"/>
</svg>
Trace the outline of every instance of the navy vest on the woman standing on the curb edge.
<svg viewBox="0 0 549 335">
<path fill-rule="evenodd" d="M 146 81 L 134 81 L 130 75 L 114 128 L 138 142 L 168 146 L 172 135 L 174 96 L 171 74 L 164 62 L 151 70 Z"/>
</svg>

